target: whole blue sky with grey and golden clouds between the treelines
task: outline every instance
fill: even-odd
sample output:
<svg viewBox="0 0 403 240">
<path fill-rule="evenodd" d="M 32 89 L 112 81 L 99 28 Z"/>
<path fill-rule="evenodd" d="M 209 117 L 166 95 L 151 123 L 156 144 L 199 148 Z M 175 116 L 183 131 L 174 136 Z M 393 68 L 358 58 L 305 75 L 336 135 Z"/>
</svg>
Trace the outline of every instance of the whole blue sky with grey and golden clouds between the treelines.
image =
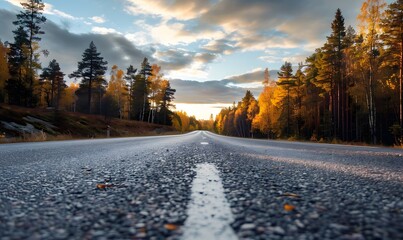
<svg viewBox="0 0 403 240">
<path fill-rule="evenodd" d="M 0 0 L 0 40 L 13 41 L 12 21 L 24 0 Z M 390 2 L 390 1 L 387 1 Z M 361 0 L 45 0 L 41 48 L 67 75 L 91 41 L 101 56 L 126 69 L 144 57 L 162 67 L 177 90 L 177 110 L 209 119 L 257 98 L 265 68 L 305 60 L 330 35 L 337 8 L 356 28 Z M 107 79 L 109 78 L 109 72 Z M 68 83 L 73 79 L 68 79 Z"/>
</svg>

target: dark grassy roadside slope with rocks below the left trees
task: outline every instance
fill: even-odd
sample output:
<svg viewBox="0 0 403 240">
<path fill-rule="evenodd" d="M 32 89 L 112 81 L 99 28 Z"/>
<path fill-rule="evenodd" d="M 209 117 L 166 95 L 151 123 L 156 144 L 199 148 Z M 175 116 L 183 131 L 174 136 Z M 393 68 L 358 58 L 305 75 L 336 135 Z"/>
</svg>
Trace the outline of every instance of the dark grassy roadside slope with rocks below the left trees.
<svg viewBox="0 0 403 240">
<path fill-rule="evenodd" d="M 105 118 L 77 112 L 0 104 L 0 143 L 65 139 L 147 136 L 174 133 L 174 128 Z"/>
</svg>

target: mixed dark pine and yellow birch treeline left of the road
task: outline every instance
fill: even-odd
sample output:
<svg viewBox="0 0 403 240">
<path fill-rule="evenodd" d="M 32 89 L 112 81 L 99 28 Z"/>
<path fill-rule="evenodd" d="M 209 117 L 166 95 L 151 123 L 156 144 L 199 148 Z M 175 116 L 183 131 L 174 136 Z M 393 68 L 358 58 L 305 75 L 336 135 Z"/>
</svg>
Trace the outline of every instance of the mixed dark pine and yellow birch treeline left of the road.
<svg viewBox="0 0 403 240">
<path fill-rule="evenodd" d="M 113 65 L 109 81 L 106 80 L 107 62 L 95 44 L 82 54 L 77 70 L 69 74 L 79 84 L 66 85 L 65 74 L 57 60 L 42 68 L 40 55 L 41 26 L 46 22 L 42 15 L 41 0 L 21 3 L 23 11 L 13 22 L 13 42 L 0 41 L 0 102 L 24 107 L 49 107 L 55 110 L 102 114 L 159 124 L 180 121 L 170 109 L 175 89 L 160 73 L 161 67 L 141 63 L 139 71 L 130 65 L 126 71 Z"/>
</svg>

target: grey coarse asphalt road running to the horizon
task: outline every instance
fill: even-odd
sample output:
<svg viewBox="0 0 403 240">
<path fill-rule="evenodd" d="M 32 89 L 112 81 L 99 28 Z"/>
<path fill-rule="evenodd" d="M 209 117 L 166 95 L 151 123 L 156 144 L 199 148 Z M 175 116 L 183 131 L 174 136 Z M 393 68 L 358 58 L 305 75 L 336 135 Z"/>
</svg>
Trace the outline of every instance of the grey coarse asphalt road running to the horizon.
<svg viewBox="0 0 403 240">
<path fill-rule="evenodd" d="M 201 131 L 3 144 L 0 183 L 0 239 L 403 239 L 399 149 Z"/>
</svg>

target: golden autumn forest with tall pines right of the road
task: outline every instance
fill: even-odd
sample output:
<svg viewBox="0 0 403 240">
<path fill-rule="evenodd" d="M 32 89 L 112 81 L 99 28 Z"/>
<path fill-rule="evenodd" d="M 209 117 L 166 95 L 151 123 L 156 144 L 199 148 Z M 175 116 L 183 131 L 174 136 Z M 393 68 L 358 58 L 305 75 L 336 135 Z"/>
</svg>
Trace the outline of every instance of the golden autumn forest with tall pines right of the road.
<svg viewBox="0 0 403 240">
<path fill-rule="evenodd" d="M 403 1 L 366 0 L 358 29 L 337 9 L 322 47 L 247 91 L 215 120 L 220 134 L 402 145 Z"/>
</svg>

